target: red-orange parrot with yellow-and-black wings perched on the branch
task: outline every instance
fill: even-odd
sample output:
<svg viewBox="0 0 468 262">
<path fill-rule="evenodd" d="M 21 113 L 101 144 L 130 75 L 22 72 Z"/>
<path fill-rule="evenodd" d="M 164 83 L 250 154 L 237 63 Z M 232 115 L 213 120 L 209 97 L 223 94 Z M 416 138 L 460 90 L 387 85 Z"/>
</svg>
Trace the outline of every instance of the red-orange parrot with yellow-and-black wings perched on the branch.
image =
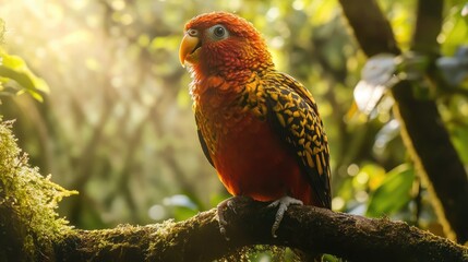
<svg viewBox="0 0 468 262">
<path fill-rule="evenodd" d="M 275 69 L 262 34 L 225 11 L 184 26 L 179 59 L 191 74 L 190 95 L 204 155 L 232 194 L 277 209 L 272 236 L 289 205 L 331 209 L 329 150 L 312 94 Z"/>
</svg>

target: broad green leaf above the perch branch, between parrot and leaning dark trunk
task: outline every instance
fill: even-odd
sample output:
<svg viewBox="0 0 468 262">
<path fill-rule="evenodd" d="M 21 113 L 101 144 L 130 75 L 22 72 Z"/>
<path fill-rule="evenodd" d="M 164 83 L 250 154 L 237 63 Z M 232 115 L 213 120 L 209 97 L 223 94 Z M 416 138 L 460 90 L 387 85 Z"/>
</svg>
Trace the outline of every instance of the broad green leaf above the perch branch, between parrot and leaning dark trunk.
<svg viewBox="0 0 468 262">
<path fill-rule="evenodd" d="M 411 200 L 415 169 L 403 164 L 387 172 L 382 184 L 371 193 L 367 216 L 379 217 L 394 214 Z"/>
</svg>

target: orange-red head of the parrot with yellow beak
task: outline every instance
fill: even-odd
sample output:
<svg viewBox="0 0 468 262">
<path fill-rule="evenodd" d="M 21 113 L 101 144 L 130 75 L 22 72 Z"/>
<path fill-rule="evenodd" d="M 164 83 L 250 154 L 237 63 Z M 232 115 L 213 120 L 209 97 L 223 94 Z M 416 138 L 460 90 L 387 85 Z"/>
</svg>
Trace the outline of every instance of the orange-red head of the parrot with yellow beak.
<svg viewBox="0 0 468 262">
<path fill-rule="evenodd" d="M 193 17 L 185 24 L 179 58 L 195 78 L 235 76 L 242 71 L 272 68 L 265 40 L 247 20 L 227 12 Z"/>
</svg>

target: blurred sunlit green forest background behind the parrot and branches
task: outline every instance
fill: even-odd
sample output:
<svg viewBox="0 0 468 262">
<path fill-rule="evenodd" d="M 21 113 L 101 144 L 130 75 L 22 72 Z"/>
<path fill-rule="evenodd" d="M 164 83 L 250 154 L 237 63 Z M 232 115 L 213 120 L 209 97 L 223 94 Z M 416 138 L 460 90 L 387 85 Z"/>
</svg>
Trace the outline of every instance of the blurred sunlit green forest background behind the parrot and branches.
<svg viewBox="0 0 468 262">
<path fill-rule="evenodd" d="M 416 2 L 380 4 L 407 49 Z M 446 1 L 437 38 L 445 56 L 468 39 L 463 4 Z M 331 145 L 334 210 L 442 234 L 403 145 L 392 98 L 369 115 L 353 104 L 367 58 L 337 1 L 0 0 L 2 47 L 23 58 L 48 90 L 43 102 L 2 96 L 0 115 L 16 119 L 14 133 L 32 165 L 80 191 L 60 206 L 72 225 L 185 219 L 228 196 L 200 147 L 190 75 L 178 60 L 184 23 L 216 10 L 251 21 L 277 68 L 314 95 Z M 467 93 L 436 97 L 465 164 Z"/>
</svg>

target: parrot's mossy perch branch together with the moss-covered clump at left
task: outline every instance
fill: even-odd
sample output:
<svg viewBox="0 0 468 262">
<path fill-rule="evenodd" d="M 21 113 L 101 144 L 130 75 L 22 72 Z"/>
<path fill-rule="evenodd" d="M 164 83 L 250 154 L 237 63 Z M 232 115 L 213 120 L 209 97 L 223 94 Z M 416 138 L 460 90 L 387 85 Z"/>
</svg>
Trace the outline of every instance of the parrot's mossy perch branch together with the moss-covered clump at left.
<svg viewBox="0 0 468 262">
<path fill-rule="evenodd" d="M 272 245 L 357 261 L 468 262 L 468 249 L 405 223 L 312 206 L 291 206 L 273 238 L 276 211 L 248 198 L 225 211 L 229 241 L 216 210 L 179 223 L 72 229 L 55 209 L 74 192 L 27 165 L 10 123 L 0 121 L 0 261 L 212 261 Z"/>
</svg>

